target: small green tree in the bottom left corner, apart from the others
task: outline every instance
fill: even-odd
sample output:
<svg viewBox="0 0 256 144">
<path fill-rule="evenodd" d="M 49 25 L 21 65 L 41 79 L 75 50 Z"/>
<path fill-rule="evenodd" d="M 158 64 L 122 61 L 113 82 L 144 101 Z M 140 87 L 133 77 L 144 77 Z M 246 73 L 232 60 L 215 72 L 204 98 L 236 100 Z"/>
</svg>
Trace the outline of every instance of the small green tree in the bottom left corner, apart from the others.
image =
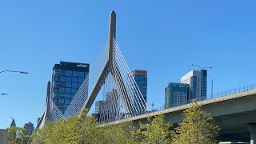
<svg viewBox="0 0 256 144">
<path fill-rule="evenodd" d="M 8 130 L 8 144 L 26 144 L 30 136 L 27 135 L 26 129 L 18 126 L 11 126 Z"/>
</svg>

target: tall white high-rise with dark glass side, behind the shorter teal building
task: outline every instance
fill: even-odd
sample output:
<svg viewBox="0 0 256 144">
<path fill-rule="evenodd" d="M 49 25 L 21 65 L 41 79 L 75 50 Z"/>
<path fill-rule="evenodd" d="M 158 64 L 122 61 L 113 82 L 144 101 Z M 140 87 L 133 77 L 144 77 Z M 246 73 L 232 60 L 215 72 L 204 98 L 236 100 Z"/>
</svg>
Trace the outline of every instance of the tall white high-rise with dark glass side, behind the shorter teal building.
<svg viewBox="0 0 256 144">
<path fill-rule="evenodd" d="M 192 70 L 181 78 L 182 83 L 190 85 L 189 102 L 192 99 L 201 101 L 207 94 L 207 70 Z"/>
</svg>

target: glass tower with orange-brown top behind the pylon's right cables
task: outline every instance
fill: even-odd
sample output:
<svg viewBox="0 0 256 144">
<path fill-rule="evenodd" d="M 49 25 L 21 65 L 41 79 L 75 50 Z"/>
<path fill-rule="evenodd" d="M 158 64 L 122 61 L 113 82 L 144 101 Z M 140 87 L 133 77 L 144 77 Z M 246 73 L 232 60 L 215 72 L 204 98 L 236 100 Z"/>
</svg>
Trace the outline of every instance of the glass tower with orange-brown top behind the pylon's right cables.
<svg viewBox="0 0 256 144">
<path fill-rule="evenodd" d="M 146 110 L 146 95 L 147 95 L 147 71 L 146 70 L 134 70 L 130 72 L 128 75 L 128 78 L 130 76 L 134 76 L 134 80 L 137 83 L 138 89 L 142 93 L 142 98 L 144 99 L 144 102 L 140 99 L 142 98 L 134 98 L 134 104 L 137 104 L 134 106 L 136 111 L 134 113 L 141 113 L 142 111 L 140 107 L 142 107 L 142 110 Z M 134 93 L 137 93 L 138 90 L 134 90 Z M 138 95 L 138 94 L 134 94 Z"/>
</svg>

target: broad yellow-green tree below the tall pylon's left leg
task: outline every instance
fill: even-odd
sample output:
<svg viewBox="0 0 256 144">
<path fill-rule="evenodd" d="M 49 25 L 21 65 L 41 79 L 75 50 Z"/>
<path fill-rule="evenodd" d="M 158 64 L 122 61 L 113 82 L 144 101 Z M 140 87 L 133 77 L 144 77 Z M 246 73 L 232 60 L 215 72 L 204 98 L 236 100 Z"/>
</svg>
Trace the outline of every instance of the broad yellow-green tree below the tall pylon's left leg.
<svg viewBox="0 0 256 144">
<path fill-rule="evenodd" d="M 39 144 L 51 143 L 100 143 L 100 130 L 97 120 L 85 110 L 81 117 L 74 116 L 67 120 L 48 122 L 42 129 L 34 132 L 32 141 Z"/>
</svg>

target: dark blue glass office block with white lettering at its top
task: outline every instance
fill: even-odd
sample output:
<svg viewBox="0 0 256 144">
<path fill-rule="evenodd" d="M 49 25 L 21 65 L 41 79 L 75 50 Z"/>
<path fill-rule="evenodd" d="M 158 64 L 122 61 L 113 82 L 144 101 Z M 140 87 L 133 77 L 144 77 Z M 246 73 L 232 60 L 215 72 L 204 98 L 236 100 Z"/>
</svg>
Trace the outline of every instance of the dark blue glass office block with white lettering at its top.
<svg viewBox="0 0 256 144">
<path fill-rule="evenodd" d="M 54 65 L 51 98 L 62 114 L 70 105 L 74 95 L 88 74 L 89 64 L 87 63 L 60 62 Z"/>
</svg>

